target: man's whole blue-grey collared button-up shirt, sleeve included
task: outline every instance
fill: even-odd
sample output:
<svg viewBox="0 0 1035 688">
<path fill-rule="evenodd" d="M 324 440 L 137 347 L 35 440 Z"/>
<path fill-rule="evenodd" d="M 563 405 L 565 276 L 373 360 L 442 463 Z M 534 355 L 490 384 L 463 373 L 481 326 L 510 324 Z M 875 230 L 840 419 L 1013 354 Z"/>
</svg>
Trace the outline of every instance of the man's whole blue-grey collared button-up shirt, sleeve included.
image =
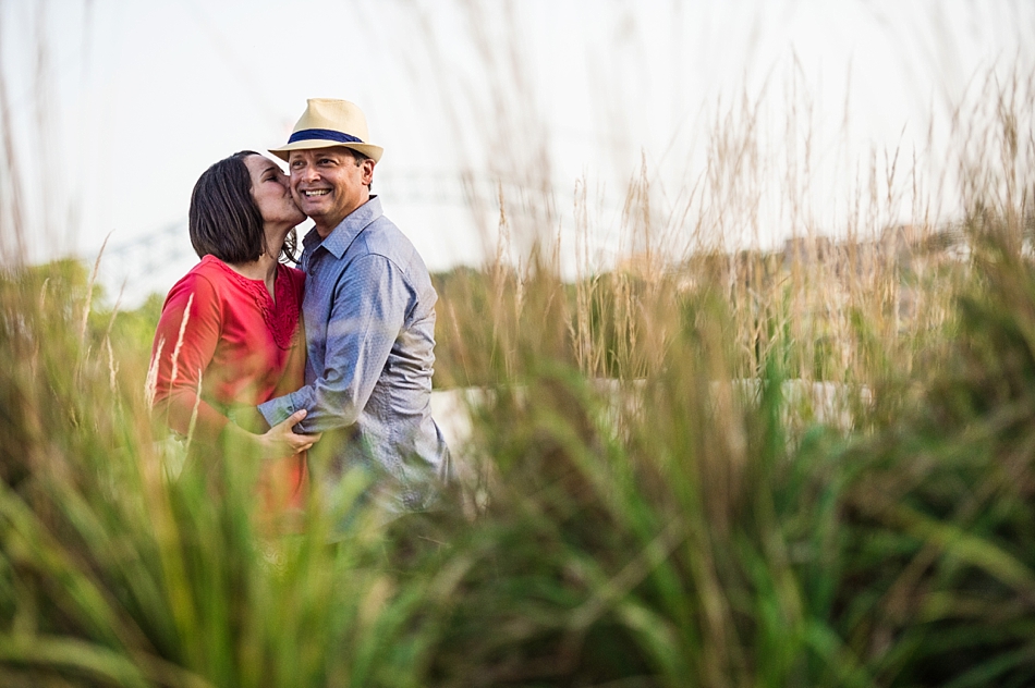
<svg viewBox="0 0 1035 688">
<path fill-rule="evenodd" d="M 325 432 L 314 449 L 331 451 L 332 481 L 358 464 L 390 477 L 390 506 L 423 508 L 450 471 L 430 411 L 438 295 L 424 260 L 377 196 L 302 244 L 305 386 L 259 410 L 273 426 L 305 408 L 301 429 Z"/>
</svg>

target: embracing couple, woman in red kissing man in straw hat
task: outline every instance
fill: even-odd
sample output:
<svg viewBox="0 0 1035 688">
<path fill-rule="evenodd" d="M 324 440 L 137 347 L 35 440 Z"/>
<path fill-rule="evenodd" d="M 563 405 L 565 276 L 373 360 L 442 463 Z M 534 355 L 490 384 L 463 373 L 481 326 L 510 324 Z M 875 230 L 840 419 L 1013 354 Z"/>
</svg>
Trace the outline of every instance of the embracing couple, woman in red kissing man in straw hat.
<svg viewBox="0 0 1035 688">
<path fill-rule="evenodd" d="M 382 149 L 344 100 L 310 99 L 288 163 L 242 151 L 191 198 L 202 261 L 169 292 L 151 353 L 154 404 L 190 438 L 190 466 L 260 463 L 267 515 L 332 495 L 349 471 L 394 513 L 431 507 L 449 450 L 430 415 L 437 295 L 372 195 Z M 303 239 L 299 269 L 294 228 Z"/>
</svg>

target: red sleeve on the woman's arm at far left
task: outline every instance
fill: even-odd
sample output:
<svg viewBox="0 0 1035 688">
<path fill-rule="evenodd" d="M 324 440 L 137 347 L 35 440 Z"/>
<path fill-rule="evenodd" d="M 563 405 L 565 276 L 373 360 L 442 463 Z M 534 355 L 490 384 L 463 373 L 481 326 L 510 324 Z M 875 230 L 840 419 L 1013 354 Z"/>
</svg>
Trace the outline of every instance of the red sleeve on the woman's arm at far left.
<svg viewBox="0 0 1035 688">
<path fill-rule="evenodd" d="M 207 444 L 215 443 L 229 422 L 198 396 L 205 384 L 203 373 L 216 355 L 221 322 L 215 286 L 200 275 L 188 274 L 166 298 L 151 349 L 151 366 L 157 371 L 155 411 L 166 416 L 170 428 L 187 434 L 196 407 L 193 438 Z"/>
</svg>

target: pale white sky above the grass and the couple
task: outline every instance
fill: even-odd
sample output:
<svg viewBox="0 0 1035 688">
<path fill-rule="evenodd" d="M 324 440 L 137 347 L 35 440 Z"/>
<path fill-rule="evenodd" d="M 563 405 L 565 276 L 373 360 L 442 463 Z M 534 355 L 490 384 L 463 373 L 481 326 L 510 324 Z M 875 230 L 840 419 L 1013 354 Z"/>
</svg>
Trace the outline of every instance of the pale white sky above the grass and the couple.
<svg viewBox="0 0 1035 688">
<path fill-rule="evenodd" d="M 792 108 L 813 133 L 809 222 L 836 231 L 870 151 L 932 153 L 928 123 L 947 131 L 989 71 L 1033 73 L 1033 37 L 1035 2 L 1008 0 L 0 4 L 37 260 L 90 257 L 109 232 L 119 247 L 183 222 L 198 174 L 235 150 L 281 145 L 307 97 L 363 108 L 386 149 L 375 192 L 433 270 L 477 265 L 478 228 L 495 229 L 498 209 L 472 213 L 461 174 L 485 188 L 504 175 L 526 189 L 518 195 L 553 189 L 561 231 L 584 180 L 606 263 L 621 250 L 621 204 L 641 162 L 660 207 L 677 208 L 716 155 L 721 113 L 745 95 L 764 102 L 763 147 L 783 147 L 768 159 L 772 179 L 800 152 L 783 140 Z M 763 243 L 789 231 L 770 210 Z M 185 226 L 178 245 L 150 250 L 131 302 L 196 261 Z M 117 290 L 126 269 L 114 262 L 102 277 Z"/>
</svg>

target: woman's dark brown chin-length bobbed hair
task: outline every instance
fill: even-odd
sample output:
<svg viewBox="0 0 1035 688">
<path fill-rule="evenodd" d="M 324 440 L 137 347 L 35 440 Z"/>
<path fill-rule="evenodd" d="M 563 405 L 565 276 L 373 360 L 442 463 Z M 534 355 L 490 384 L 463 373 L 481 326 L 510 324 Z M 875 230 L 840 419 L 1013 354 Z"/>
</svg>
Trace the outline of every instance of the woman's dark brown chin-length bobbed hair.
<svg viewBox="0 0 1035 688">
<path fill-rule="evenodd" d="M 205 170 L 191 194 L 191 244 L 198 258 L 211 254 L 223 262 L 258 260 L 266 251 L 263 213 L 252 197 L 252 173 L 244 163 L 254 150 L 242 150 Z M 292 230 L 281 255 L 294 261 Z"/>
</svg>

